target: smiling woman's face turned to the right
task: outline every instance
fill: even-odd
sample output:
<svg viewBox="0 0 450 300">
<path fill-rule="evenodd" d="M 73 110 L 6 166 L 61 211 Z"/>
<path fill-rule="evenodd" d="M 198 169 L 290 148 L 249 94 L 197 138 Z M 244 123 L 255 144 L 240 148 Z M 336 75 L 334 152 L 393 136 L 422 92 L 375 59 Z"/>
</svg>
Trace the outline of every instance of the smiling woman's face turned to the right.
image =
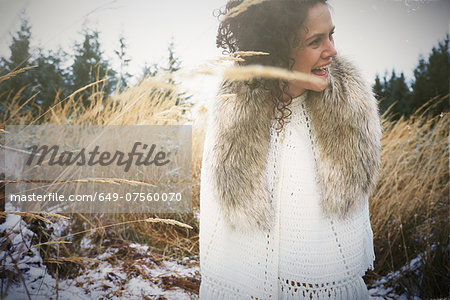
<svg viewBox="0 0 450 300">
<path fill-rule="evenodd" d="M 295 60 L 293 71 L 310 74 L 320 80 L 291 82 L 289 92 L 293 97 L 303 94 L 305 90 L 321 92 L 327 87 L 328 66 L 337 53 L 333 33 L 334 25 L 328 6 L 318 3 L 311 7 L 299 32 L 300 43 L 292 48 L 290 57 Z"/>
</svg>

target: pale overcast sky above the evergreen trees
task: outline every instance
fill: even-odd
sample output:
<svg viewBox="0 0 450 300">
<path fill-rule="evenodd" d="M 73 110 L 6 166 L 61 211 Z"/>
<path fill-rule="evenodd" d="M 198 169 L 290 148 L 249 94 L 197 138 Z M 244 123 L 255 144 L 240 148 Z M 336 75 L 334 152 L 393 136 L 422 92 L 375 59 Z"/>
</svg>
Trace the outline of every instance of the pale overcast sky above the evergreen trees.
<svg viewBox="0 0 450 300">
<path fill-rule="evenodd" d="M 449 0 L 329 0 L 338 53 L 354 60 L 373 81 L 393 68 L 413 78 L 419 55 L 449 32 Z M 226 0 L 0 0 L 0 56 L 9 56 L 21 16 L 32 26 L 32 46 L 71 53 L 82 28 L 96 29 L 105 56 L 117 64 L 114 49 L 125 37 L 139 75 L 145 63 L 164 64 L 171 41 L 182 66 L 195 68 L 221 55 L 215 46 L 214 10 Z M 210 87 L 204 79 L 197 85 Z"/>
</svg>

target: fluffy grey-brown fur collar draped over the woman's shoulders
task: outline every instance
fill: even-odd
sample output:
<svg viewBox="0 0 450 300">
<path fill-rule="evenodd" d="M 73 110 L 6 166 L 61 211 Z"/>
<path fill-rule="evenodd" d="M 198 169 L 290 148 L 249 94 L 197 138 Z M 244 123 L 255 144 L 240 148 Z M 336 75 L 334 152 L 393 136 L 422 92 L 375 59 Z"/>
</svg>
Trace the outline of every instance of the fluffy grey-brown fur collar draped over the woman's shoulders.
<svg viewBox="0 0 450 300">
<path fill-rule="evenodd" d="M 381 125 L 376 99 L 358 70 L 335 57 L 330 84 L 309 91 L 306 107 L 319 147 L 316 180 L 325 215 L 345 218 L 361 207 L 376 185 Z M 273 208 L 265 178 L 272 101 L 268 92 L 225 82 L 216 103 L 211 167 L 218 202 L 233 228 L 269 229 Z"/>
</svg>

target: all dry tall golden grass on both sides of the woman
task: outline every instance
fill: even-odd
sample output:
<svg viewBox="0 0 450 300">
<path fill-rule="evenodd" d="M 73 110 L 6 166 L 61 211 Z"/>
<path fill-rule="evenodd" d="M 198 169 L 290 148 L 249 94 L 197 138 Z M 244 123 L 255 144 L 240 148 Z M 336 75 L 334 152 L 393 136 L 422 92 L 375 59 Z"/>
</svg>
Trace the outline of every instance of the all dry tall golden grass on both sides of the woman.
<svg viewBox="0 0 450 300">
<path fill-rule="evenodd" d="M 105 98 L 96 84 L 91 89 L 91 105 L 83 107 L 79 91 L 66 99 L 56 99 L 39 119 L 22 112 L 11 102 L 9 124 L 131 125 L 186 124 L 191 122 L 189 105 L 177 106 L 176 87 L 167 78 L 151 78 L 136 87 Z M 19 99 L 15 95 L 14 99 Z M 434 102 L 436 102 L 435 99 Z M 441 101 L 448 101 L 448 96 Z M 205 116 L 206 111 L 200 110 Z M 448 295 L 448 213 L 449 157 L 448 122 L 445 112 L 430 117 L 425 108 L 410 119 L 391 121 L 384 116 L 382 171 L 371 199 L 371 220 L 377 255 L 369 282 L 384 278 L 385 284 L 400 293 L 427 297 Z M 198 258 L 198 219 L 200 168 L 204 122 L 195 120 L 193 128 L 193 214 L 142 216 L 140 214 L 73 215 L 71 232 L 92 229 L 91 236 L 99 247 L 123 239 L 146 243 L 161 258 Z M 193 227 L 186 229 L 164 223 L 135 222 L 148 217 L 175 218 Z M 98 230 L 108 227 L 109 230 Z M 108 239 L 106 236 L 108 235 Z M 67 256 L 73 256 L 81 238 L 64 245 Z M 108 240 L 108 242 L 106 242 Z M 53 245 L 55 246 L 55 245 Z M 61 251 L 63 253 L 64 251 Z M 54 259 L 54 257 L 52 257 Z M 413 264 L 409 265 L 411 260 Z M 63 265 L 61 262 L 60 265 Z M 61 267 L 62 268 L 62 267 Z M 390 274 L 390 276 L 386 276 Z"/>
</svg>

